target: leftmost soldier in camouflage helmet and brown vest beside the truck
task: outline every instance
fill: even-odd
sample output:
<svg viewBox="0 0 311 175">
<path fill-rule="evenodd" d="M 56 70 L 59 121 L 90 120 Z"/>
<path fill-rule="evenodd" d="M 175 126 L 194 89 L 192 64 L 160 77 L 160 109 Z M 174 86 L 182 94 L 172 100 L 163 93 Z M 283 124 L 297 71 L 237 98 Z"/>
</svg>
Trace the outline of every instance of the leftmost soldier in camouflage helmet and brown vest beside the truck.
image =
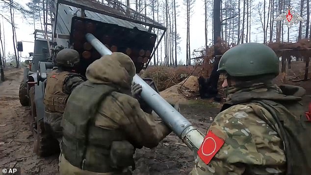
<svg viewBox="0 0 311 175">
<path fill-rule="evenodd" d="M 44 123 L 47 130 L 50 130 L 53 137 L 60 142 L 62 137 L 60 122 L 67 99 L 74 88 L 84 82 L 85 78 L 73 72 L 80 61 L 78 51 L 73 49 L 60 50 L 54 61 L 57 69 L 48 74 L 45 89 L 46 117 Z"/>
</svg>

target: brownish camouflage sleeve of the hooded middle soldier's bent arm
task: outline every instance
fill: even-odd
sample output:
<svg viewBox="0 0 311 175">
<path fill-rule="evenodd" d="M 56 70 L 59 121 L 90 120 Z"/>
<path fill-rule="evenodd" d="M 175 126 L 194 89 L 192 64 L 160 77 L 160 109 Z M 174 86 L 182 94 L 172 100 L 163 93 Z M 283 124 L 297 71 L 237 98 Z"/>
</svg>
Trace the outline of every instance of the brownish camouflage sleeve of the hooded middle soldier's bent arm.
<svg viewBox="0 0 311 175">
<path fill-rule="evenodd" d="M 101 104 L 95 125 L 105 129 L 122 129 L 136 148 L 153 148 L 171 130 L 155 116 L 145 113 L 139 102 L 125 94 L 113 92 Z"/>
</svg>

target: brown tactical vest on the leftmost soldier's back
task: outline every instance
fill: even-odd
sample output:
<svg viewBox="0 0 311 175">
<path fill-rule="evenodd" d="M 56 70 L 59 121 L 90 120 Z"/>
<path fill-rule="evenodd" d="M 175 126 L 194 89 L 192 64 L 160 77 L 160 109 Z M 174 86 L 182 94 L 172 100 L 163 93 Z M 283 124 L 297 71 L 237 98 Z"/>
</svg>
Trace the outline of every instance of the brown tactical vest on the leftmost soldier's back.
<svg viewBox="0 0 311 175">
<path fill-rule="evenodd" d="M 72 73 L 52 71 L 47 77 L 45 89 L 45 110 L 52 113 L 63 113 L 69 94 L 63 92 L 65 79 Z"/>
</svg>

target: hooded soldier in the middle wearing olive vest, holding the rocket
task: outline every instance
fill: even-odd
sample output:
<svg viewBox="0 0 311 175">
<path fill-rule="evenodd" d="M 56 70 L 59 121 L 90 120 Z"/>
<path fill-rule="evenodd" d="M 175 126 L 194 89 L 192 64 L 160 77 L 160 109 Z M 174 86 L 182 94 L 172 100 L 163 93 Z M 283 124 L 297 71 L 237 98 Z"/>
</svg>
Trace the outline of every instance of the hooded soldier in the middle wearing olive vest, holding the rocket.
<svg viewBox="0 0 311 175">
<path fill-rule="evenodd" d="M 141 92 L 139 84 L 131 90 L 135 73 L 120 52 L 89 65 L 88 80 L 73 91 L 63 115 L 60 175 L 130 175 L 135 149 L 156 147 L 171 132 L 131 97 Z"/>
</svg>

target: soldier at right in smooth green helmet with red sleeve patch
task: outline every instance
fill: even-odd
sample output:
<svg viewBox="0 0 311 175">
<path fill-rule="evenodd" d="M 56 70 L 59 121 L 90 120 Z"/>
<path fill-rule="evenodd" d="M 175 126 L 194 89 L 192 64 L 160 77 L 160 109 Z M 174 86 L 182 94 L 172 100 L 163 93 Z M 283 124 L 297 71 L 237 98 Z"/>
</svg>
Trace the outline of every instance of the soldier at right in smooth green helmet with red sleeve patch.
<svg viewBox="0 0 311 175">
<path fill-rule="evenodd" d="M 279 74 L 274 51 L 258 43 L 233 47 L 218 71 L 227 102 L 190 175 L 310 175 L 311 121 L 299 102 L 305 89 L 272 84 Z"/>
</svg>

